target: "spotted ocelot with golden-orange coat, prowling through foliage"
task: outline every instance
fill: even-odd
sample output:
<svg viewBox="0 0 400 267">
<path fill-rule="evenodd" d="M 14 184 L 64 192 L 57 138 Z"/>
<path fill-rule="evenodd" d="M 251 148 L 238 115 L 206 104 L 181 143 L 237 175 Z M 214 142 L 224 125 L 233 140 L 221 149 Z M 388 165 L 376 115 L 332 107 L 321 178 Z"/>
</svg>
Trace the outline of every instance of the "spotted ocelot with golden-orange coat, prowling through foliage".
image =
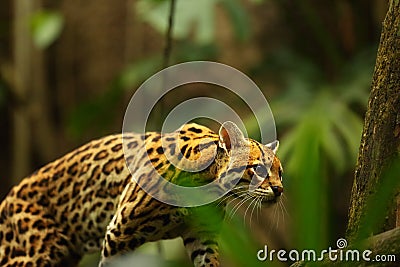
<svg viewBox="0 0 400 267">
<path fill-rule="evenodd" d="M 277 148 L 277 141 L 262 145 L 244 138 L 232 122 L 219 134 L 190 123 L 169 134 L 119 134 L 87 143 L 23 179 L 2 201 L 0 266 L 76 266 L 84 254 L 99 250 L 100 265 L 108 265 L 143 243 L 175 237 L 183 239 L 195 266 L 219 266 L 220 220 L 209 227 L 196 217 L 201 207 L 163 203 L 137 181 L 162 191 L 154 184 L 156 171 L 176 184 L 233 183 L 228 195 L 273 204 L 283 192 Z M 124 150 L 133 152 L 130 158 Z M 201 163 L 207 155 L 210 164 L 196 172 L 171 163 Z M 221 220 L 222 200 L 207 204 Z"/>
</svg>

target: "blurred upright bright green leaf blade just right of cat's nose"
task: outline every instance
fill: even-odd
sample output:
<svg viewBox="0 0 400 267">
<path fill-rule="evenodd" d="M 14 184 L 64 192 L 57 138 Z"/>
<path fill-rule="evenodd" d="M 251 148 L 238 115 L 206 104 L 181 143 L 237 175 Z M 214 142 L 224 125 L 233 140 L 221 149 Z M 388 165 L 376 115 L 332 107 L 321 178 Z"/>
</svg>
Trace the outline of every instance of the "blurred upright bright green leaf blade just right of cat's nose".
<svg viewBox="0 0 400 267">
<path fill-rule="evenodd" d="M 296 221 L 296 244 L 317 249 L 326 243 L 325 227 L 328 220 L 318 122 L 312 116 L 305 116 L 295 127 L 293 140 L 290 141 L 291 160 L 286 162 L 285 168 L 285 173 L 292 177 L 292 190 L 295 188 L 288 194 L 296 203 L 296 208 L 291 212 Z"/>
</svg>

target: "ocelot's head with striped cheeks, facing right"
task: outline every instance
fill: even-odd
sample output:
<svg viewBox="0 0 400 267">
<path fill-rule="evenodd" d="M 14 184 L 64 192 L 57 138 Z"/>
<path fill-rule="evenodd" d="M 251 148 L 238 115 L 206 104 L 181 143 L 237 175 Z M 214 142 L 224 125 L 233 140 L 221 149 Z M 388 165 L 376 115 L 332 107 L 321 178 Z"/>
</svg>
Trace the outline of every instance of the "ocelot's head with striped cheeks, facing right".
<svg viewBox="0 0 400 267">
<path fill-rule="evenodd" d="M 219 179 L 235 184 L 230 194 L 276 202 L 283 192 L 282 166 L 276 156 L 279 141 L 263 145 L 245 138 L 235 123 L 225 122 L 219 130 L 218 146 L 229 157 Z"/>
</svg>

